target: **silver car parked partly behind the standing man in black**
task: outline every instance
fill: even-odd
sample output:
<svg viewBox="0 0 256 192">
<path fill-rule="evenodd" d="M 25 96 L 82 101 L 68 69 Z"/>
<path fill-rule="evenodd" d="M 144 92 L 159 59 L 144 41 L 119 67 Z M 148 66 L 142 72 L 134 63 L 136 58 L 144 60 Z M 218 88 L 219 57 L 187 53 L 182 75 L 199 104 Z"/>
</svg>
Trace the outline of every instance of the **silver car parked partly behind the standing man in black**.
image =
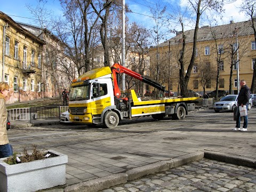
<svg viewBox="0 0 256 192">
<path fill-rule="evenodd" d="M 221 110 L 233 112 L 235 107 L 237 106 L 237 97 L 238 94 L 226 95 L 225 97 L 221 98 L 220 101 L 213 104 L 213 109 L 216 113 L 219 113 Z M 248 110 L 251 110 L 251 107 L 252 99 L 249 100 Z"/>
</svg>

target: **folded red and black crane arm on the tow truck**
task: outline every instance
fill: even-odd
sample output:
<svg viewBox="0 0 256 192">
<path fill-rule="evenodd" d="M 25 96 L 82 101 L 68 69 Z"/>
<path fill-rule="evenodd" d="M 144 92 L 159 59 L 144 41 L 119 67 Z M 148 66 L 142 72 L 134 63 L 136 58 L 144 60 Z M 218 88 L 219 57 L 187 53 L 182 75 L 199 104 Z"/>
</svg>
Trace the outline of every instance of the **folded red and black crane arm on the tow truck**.
<svg viewBox="0 0 256 192">
<path fill-rule="evenodd" d="M 144 76 L 142 76 L 142 75 L 140 75 L 140 74 L 138 74 L 138 73 L 136 73 L 136 72 L 134 72 L 130 69 L 127 69 L 126 67 L 121 66 L 119 63 L 115 63 L 111 67 L 111 71 L 113 73 L 113 80 L 114 80 L 114 95 L 118 98 L 121 95 L 121 91 L 118 87 L 116 75 L 117 74 L 122 74 L 122 73 L 130 75 L 131 77 L 137 78 L 137 79 L 139 79 L 140 81 L 142 81 L 144 83 L 147 83 L 151 86 L 154 86 L 158 90 L 165 91 L 165 86 L 162 86 L 161 84 L 159 84 L 157 82 L 154 82 L 154 81 L 152 81 L 151 79 L 149 79 L 147 77 L 144 77 Z"/>
</svg>

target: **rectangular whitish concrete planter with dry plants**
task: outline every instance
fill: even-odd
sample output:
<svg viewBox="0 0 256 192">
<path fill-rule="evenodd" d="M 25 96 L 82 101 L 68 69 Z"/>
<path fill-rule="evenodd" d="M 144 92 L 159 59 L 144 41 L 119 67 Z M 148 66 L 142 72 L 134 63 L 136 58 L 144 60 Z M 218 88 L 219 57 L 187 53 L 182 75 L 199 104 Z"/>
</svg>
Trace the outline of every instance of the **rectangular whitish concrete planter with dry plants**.
<svg viewBox="0 0 256 192">
<path fill-rule="evenodd" d="M 0 191 L 37 191 L 66 183 L 68 156 L 53 150 L 57 157 L 9 165 L 0 159 Z"/>
</svg>

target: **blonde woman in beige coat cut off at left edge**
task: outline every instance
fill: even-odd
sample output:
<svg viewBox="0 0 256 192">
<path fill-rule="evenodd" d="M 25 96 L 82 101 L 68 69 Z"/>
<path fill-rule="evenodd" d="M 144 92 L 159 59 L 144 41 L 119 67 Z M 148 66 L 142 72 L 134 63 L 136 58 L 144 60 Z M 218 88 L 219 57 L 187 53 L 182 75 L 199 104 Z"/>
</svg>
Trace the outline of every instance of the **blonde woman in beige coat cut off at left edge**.
<svg viewBox="0 0 256 192">
<path fill-rule="evenodd" d="M 0 83 L 0 158 L 9 157 L 12 155 L 12 147 L 9 145 L 7 137 L 6 122 L 7 110 L 5 99 L 9 94 L 9 85 L 5 82 Z"/>
</svg>

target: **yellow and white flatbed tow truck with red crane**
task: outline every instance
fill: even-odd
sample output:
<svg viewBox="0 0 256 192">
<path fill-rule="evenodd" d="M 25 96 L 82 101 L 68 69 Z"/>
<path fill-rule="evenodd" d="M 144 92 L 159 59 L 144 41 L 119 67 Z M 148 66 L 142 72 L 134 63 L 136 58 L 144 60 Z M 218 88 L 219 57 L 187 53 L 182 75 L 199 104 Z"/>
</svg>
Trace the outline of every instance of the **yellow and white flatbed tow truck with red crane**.
<svg viewBox="0 0 256 192">
<path fill-rule="evenodd" d="M 154 119 L 163 119 L 166 116 L 183 119 L 188 111 L 195 110 L 194 101 L 197 97 L 141 101 L 134 90 L 121 92 L 117 76 L 122 73 L 165 91 L 164 86 L 118 63 L 111 68 L 93 69 L 74 79 L 71 84 L 70 121 L 91 125 L 103 124 L 107 128 L 114 128 L 124 118 L 151 115 Z"/>
</svg>

